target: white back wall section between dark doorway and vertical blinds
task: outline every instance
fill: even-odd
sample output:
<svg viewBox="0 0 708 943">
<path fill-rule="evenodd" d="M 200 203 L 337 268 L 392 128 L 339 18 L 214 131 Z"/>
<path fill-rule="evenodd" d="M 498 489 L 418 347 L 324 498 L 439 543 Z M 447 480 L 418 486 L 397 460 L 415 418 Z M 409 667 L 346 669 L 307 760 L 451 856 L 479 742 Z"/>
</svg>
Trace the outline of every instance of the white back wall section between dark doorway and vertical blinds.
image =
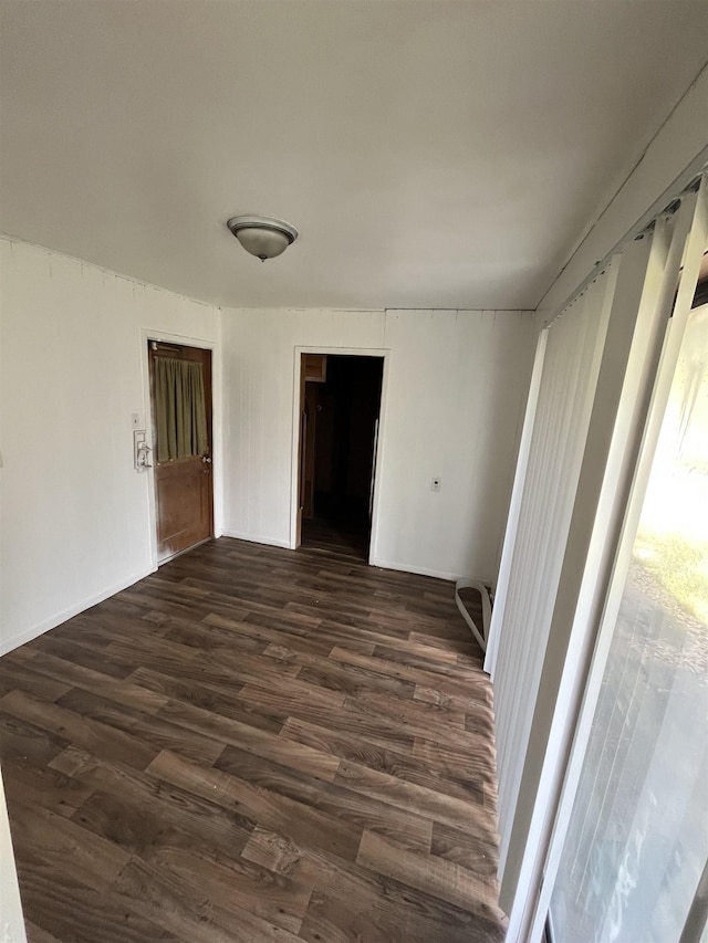
<svg viewBox="0 0 708 943">
<path fill-rule="evenodd" d="M 533 356 L 519 312 L 396 311 L 377 557 L 496 578 Z M 439 492 L 430 480 L 441 480 Z"/>
</svg>

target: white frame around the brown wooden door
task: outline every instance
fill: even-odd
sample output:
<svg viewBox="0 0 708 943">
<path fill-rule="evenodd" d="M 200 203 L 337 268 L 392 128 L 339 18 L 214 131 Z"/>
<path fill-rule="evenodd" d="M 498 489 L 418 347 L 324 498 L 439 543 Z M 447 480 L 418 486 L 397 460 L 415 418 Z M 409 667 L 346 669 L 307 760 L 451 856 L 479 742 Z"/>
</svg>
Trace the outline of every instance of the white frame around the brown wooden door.
<svg viewBox="0 0 708 943">
<path fill-rule="evenodd" d="M 140 371 L 143 375 L 143 415 L 142 426 L 145 429 L 147 442 L 150 449 L 155 444 L 155 430 L 153 428 L 153 407 L 150 402 L 150 368 L 147 345 L 150 340 L 164 344 L 179 344 L 184 347 L 198 347 L 201 350 L 211 352 L 211 504 L 214 515 L 214 536 L 220 537 L 223 532 L 222 514 L 222 412 L 221 412 L 221 350 L 218 342 L 205 340 L 204 337 L 188 337 L 184 334 L 171 334 L 166 331 L 153 331 L 148 327 L 140 328 Z M 154 452 L 150 452 L 150 464 L 154 461 Z M 155 496 L 155 471 L 150 468 L 142 475 L 147 482 L 147 520 L 149 557 L 153 572 L 159 566 L 157 554 L 157 503 Z"/>
</svg>

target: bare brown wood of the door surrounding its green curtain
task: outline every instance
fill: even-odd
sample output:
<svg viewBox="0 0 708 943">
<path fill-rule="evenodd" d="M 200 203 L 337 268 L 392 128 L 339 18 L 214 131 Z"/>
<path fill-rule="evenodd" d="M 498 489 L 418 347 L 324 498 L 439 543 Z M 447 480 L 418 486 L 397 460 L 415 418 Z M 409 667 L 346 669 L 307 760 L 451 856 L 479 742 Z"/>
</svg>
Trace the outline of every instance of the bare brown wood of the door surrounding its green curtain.
<svg viewBox="0 0 708 943">
<path fill-rule="evenodd" d="M 148 343 L 150 402 L 153 408 L 157 556 L 160 562 L 181 553 L 214 534 L 214 469 L 211 462 L 211 352 L 199 347 Z M 157 443 L 159 423 L 165 420 L 156 408 L 156 360 L 159 357 L 190 360 L 201 365 L 207 421 L 207 440 L 194 449 L 197 454 L 160 458 Z"/>
</svg>

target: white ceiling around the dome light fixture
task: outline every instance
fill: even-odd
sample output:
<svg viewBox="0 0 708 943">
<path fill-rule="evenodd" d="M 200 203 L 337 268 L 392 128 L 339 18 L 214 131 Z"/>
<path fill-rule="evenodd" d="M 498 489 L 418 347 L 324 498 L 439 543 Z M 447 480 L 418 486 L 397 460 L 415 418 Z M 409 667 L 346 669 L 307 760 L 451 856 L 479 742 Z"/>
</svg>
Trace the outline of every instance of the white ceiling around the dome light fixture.
<svg viewBox="0 0 708 943">
<path fill-rule="evenodd" d="M 254 307 L 534 307 L 708 36 L 705 0 L 0 12 L 0 230 Z M 243 212 L 300 239 L 261 264 Z"/>
</svg>

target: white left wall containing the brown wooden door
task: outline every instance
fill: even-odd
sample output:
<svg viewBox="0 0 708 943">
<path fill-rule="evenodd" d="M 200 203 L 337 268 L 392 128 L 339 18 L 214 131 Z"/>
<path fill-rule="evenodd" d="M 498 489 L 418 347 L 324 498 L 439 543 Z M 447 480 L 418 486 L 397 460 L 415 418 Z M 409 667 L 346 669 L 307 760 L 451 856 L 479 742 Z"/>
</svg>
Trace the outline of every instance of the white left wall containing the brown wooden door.
<svg viewBox="0 0 708 943">
<path fill-rule="evenodd" d="M 2 652 L 154 568 L 143 332 L 218 347 L 220 312 L 7 239 L 0 271 Z"/>
</svg>

